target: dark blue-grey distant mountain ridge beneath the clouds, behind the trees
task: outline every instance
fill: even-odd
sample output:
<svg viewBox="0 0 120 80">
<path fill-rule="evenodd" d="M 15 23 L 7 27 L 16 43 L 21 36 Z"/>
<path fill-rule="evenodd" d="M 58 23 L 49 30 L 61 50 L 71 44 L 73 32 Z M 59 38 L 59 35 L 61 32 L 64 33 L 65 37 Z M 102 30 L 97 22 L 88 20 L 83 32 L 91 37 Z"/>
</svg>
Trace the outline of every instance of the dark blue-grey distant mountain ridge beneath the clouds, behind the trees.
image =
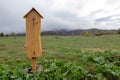
<svg viewBox="0 0 120 80">
<path fill-rule="evenodd" d="M 51 30 L 51 31 L 42 31 L 41 34 L 42 35 L 65 35 L 65 36 L 69 36 L 69 35 L 81 35 L 83 32 L 96 32 L 96 31 L 101 31 L 101 32 L 105 32 L 105 31 L 117 31 L 117 30 L 101 30 L 101 29 L 96 29 L 96 28 L 92 28 L 92 29 L 76 29 L 76 30 L 66 30 L 66 29 L 61 29 L 61 30 Z M 18 33 L 18 36 L 24 36 L 25 33 Z"/>
</svg>

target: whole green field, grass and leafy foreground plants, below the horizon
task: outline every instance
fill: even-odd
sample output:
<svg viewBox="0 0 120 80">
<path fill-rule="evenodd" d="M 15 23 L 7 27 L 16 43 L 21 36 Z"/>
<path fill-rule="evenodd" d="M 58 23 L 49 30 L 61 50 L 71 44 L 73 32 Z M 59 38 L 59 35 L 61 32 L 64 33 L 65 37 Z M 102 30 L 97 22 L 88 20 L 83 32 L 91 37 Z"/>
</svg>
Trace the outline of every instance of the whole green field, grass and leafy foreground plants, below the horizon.
<svg viewBox="0 0 120 80">
<path fill-rule="evenodd" d="M 120 80 L 120 36 L 42 36 L 43 71 L 31 66 L 25 37 L 0 37 L 0 80 Z"/>
</svg>

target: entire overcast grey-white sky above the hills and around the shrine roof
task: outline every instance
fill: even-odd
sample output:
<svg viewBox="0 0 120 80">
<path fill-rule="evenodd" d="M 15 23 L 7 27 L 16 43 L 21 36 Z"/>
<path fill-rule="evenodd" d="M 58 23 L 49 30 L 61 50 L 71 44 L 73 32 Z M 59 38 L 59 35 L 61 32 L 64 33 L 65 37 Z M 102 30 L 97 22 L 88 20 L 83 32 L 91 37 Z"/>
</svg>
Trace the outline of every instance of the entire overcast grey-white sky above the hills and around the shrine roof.
<svg viewBox="0 0 120 80">
<path fill-rule="evenodd" d="M 32 7 L 44 17 L 43 31 L 120 28 L 120 0 L 0 0 L 0 32 L 25 32 Z"/>
</svg>

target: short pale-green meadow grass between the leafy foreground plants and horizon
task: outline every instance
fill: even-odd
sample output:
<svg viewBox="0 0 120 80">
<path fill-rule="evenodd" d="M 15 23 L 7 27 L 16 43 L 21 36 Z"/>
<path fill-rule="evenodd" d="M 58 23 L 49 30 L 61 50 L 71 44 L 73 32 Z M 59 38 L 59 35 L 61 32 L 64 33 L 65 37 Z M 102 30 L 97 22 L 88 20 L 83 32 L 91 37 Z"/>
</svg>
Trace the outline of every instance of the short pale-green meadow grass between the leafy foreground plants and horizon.
<svg viewBox="0 0 120 80">
<path fill-rule="evenodd" d="M 24 44 L 25 37 L 0 37 L 0 63 L 26 59 Z M 39 59 L 73 61 L 80 52 L 103 52 L 110 49 L 120 52 L 120 36 L 42 36 L 42 49 L 43 55 Z"/>
</svg>

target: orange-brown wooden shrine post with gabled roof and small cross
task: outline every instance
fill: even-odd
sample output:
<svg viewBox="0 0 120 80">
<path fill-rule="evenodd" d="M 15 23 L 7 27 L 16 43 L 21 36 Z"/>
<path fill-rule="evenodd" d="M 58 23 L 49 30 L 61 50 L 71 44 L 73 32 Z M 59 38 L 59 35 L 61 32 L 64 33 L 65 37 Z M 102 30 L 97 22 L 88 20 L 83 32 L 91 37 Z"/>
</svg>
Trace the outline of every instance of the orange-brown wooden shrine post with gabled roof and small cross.
<svg viewBox="0 0 120 80">
<path fill-rule="evenodd" d="M 25 16 L 26 19 L 26 52 L 27 57 L 32 59 L 32 71 L 37 70 L 37 57 L 42 54 L 41 48 L 41 19 L 42 15 L 32 8 Z"/>
</svg>

